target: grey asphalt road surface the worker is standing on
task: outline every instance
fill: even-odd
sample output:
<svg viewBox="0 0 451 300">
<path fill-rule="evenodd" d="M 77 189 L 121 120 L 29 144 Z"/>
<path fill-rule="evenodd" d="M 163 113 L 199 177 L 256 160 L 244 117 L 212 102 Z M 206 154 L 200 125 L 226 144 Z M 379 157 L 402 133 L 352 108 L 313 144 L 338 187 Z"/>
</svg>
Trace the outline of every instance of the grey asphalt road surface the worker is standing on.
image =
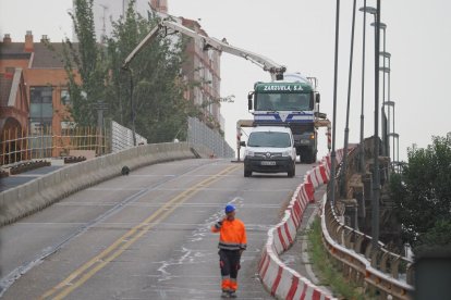
<svg viewBox="0 0 451 300">
<path fill-rule="evenodd" d="M 240 299 L 271 299 L 257 273 L 296 176 L 227 160 L 186 160 L 115 177 L 1 227 L 3 299 L 219 299 L 218 235 L 227 203 L 247 228 Z"/>
</svg>

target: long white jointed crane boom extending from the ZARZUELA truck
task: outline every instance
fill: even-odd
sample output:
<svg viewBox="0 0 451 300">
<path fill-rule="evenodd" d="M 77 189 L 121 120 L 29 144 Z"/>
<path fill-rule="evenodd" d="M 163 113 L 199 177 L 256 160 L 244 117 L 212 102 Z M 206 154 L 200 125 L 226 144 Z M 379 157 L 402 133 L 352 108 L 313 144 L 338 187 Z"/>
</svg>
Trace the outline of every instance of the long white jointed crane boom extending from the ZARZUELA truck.
<svg viewBox="0 0 451 300">
<path fill-rule="evenodd" d="M 214 37 L 207 37 L 207 36 L 200 35 L 199 33 L 196 33 L 176 22 L 169 21 L 167 18 L 162 20 L 158 24 L 158 26 L 154 27 L 150 30 L 150 33 L 148 33 L 147 36 L 135 47 L 135 49 L 133 49 L 133 51 L 124 60 L 122 67 L 127 68 L 129 64 L 134 59 L 134 57 L 136 57 L 136 54 L 141 50 L 143 50 L 143 48 L 146 47 L 149 42 L 151 42 L 155 39 L 155 37 L 163 29 L 164 30 L 172 29 L 174 32 L 181 33 L 182 35 L 199 40 L 203 43 L 204 49 L 211 48 L 218 51 L 227 52 L 229 54 L 241 57 L 245 60 L 248 60 L 257 64 L 258 66 L 260 66 L 264 71 L 269 72 L 272 80 L 282 79 L 283 73 L 287 71 L 285 66 L 280 65 L 264 55 L 229 45 L 226 39 L 219 40 Z"/>
</svg>

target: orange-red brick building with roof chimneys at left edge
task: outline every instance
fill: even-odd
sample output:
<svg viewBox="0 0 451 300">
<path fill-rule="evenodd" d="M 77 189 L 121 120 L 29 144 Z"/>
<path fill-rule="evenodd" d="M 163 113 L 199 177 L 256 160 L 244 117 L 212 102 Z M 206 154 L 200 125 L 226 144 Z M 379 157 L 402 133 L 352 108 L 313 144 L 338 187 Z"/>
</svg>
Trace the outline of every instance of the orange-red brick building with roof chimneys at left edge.
<svg viewBox="0 0 451 300">
<path fill-rule="evenodd" d="M 10 128 L 34 134 L 46 127 L 59 135 L 68 126 L 68 76 L 58 55 L 62 47 L 46 36 L 35 41 L 32 32 L 22 42 L 14 42 L 9 35 L 0 41 L 2 136 Z"/>
</svg>

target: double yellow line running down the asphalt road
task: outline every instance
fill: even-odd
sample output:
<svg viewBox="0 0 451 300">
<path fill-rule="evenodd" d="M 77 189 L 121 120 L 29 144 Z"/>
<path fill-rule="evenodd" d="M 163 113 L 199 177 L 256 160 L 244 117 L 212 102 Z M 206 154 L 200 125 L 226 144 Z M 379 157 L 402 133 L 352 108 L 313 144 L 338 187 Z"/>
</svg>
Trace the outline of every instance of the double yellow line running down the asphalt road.
<svg viewBox="0 0 451 300">
<path fill-rule="evenodd" d="M 71 273 L 64 280 L 62 280 L 60 284 L 58 284 L 57 286 L 48 290 L 46 293 L 39 297 L 39 299 L 49 298 L 57 292 L 59 293 L 54 296 L 53 299 L 63 299 L 69 293 L 71 293 L 74 289 L 76 289 L 77 287 L 83 285 L 86 280 L 88 280 L 90 277 L 93 277 L 97 272 L 103 268 L 109 262 L 111 262 L 112 260 L 118 258 L 120 254 L 122 254 L 138 238 L 141 238 L 144 234 L 146 234 L 157 223 L 166 218 L 170 213 L 172 213 L 180 204 L 186 201 L 190 197 L 194 196 L 195 193 L 197 193 L 197 191 L 202 190 L 206 186 L 211 185 L 215 182 L 219 180 L 220 176 L 231 173 L 239 167 L 241 167 L 241 165 L 229 166 L 224 168 L 223 171 L 219 172 L 218 174 L 212 175 L 211 177 L 208 177 L 202 180 L 200 183 L 194 185 L 193 187 L 182 191 L 181 193 L 179 193 L 178 196 L 169 200 L 167 203 L 164 203 L 164 205 L 159 208 L 155 213 L 149 215 L 142 223 L 139 223 L 138 225 L 136 225 L 135 227 L 126 232 L 122 237 L 117 239 L 112 245 L 110 245 L 102 252 L 100 252 L 99 254 L 94 257 L 92 260 L 86 262 L 84 265 L 78 267 L 76 271 Z M 76 278 L 78 279 L 75 280 Z"/>
</svg>

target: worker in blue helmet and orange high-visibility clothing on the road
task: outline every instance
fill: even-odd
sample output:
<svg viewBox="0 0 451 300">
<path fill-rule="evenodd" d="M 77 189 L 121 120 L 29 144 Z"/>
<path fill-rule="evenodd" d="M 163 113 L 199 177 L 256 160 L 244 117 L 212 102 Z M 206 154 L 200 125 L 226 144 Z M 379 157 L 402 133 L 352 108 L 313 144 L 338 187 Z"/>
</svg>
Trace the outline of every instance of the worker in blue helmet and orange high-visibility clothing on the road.
<svg viewBox="0 0 451 300">
<path fill-rule="evenodd" d="M 211 226 L 212 233 L 219 233 L 219 265 L 221 267 L 221 289 L 223 298 L 236 298 L 237 273 L 241 254 L 246 250 L 247 238 L 244 223 L 235 217 L 235 208 L 226 207 L 226 216 Z"/>
</svg>

